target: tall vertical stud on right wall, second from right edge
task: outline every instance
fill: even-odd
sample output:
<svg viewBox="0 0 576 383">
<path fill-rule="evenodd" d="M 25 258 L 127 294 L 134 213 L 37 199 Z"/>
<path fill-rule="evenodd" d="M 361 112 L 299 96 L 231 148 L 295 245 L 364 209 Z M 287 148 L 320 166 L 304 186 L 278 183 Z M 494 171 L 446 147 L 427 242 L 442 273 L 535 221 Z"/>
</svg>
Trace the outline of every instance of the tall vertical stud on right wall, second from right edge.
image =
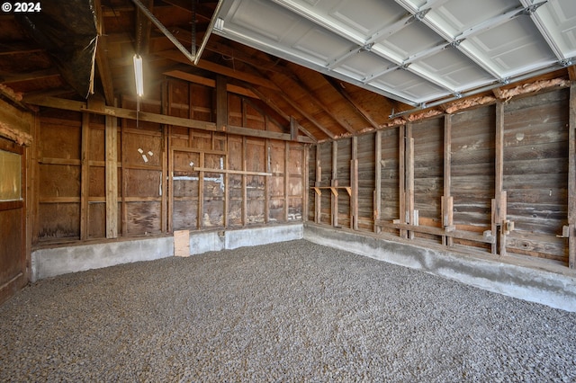
<svg viewBox="0 0 576 383">
<path fill-rule="evenodd" d="M 492 236 L 497 237 L 497 244 L 492 245 L 492 253 L 506 254 L 506 234 L 502 229 L 502 222 L 506 219 L 506 194 L 503 190 L 504 183 L 504 103 L 496 102 L 496 143 L 495 143 L 495 198 L 494 219 L 491 229 Z M 498 243 L 500 243 L 500 248 Z"/>
</svg>

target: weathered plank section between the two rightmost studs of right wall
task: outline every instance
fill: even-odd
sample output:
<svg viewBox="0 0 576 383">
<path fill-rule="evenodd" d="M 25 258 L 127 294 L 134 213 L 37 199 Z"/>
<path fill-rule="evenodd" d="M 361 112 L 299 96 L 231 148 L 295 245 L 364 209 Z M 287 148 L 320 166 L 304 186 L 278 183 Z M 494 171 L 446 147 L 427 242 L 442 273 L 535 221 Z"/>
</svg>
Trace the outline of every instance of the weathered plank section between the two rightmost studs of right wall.
<svg viewBox="0 0 576 383">
<path fill-rule="evenodd" d="M 568 262 L 561 235 L 568 217 L 567 90 L 536 94 L 505 107 L 504 190 L 510 253 Z"/>
</svg>

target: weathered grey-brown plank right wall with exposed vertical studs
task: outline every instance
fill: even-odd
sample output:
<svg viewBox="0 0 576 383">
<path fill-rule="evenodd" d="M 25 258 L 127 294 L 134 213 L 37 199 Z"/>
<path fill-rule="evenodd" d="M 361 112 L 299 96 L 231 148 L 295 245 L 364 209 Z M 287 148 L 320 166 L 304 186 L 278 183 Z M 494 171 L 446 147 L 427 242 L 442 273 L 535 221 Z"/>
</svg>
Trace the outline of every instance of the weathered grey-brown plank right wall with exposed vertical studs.
<svg viewBox="0 0 576 383">
<path fill-rule="evenodd" d="M 311 147 L 308 216 L 568 265 L 570 100 L 556 89 Z"/>
</svg>

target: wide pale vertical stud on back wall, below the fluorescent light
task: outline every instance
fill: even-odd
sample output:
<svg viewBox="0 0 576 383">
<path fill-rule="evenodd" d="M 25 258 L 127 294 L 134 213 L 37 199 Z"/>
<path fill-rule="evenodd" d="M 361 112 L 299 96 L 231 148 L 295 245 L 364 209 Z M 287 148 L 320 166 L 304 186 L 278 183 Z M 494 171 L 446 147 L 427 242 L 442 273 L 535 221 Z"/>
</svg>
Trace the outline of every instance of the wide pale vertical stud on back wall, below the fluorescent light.
<svg viewBox="0 0 576 383">
<path fill-rule="evenodd" d="M 106 116 L 104 129 L 104 146 L 106 148 L 104 170 L 106 175 L 106 238 L 116 238 L 118 237 L 118 120 L 115 117 Z M 122 141 L 124 140 L 122 139 Z M 126 174 L 124 174 L 124 183 L 125 180 Z M 122 187 L 122 197 L 124 195 L 125 187 Z M 125 199 L 122 198 L 122 231 L 126 234 L 126 207 L 123 200 Z"/>
</svg>

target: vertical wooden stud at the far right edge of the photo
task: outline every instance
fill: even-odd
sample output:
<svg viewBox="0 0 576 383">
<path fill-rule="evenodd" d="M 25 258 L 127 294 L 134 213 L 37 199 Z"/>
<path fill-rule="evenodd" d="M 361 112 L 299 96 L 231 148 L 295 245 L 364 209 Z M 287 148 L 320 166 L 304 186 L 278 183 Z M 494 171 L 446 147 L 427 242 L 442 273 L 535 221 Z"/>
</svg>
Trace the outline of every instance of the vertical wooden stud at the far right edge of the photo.
<svg viewBox="0 0 576 383">
<path fill-rule="evenodd" d="M 576 267 L 576 84 L 570 86 L 568 117 L 568 267 Z"/>
</svg>

